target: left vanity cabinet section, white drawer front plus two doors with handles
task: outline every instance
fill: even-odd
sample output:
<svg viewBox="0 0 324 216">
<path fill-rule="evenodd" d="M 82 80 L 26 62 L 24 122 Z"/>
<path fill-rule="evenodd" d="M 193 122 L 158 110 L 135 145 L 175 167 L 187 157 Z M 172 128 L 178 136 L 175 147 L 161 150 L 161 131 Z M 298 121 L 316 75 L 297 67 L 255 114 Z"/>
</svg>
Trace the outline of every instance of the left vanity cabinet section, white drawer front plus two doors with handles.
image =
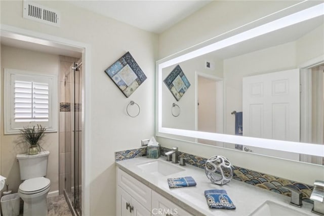
<svg viewBox="0 0 324 216">
<path fill-rule="evenodd" d="M 147 216 L 151 214 L 151 189 L 117 169 L 116 215 Z"/>
</svg>

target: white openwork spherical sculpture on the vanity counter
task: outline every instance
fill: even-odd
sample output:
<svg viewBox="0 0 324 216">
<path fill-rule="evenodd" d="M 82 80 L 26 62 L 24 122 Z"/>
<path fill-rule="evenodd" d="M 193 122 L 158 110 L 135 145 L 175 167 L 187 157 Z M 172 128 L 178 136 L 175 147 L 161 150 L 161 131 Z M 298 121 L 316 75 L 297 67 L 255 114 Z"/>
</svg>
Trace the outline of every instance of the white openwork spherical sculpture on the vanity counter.
<svg viewBox="0 0 324 216">
<path fill-rule="evenodd" d="M 233 170 L 231 163 L 223 156 L 213 156 L 206 162 L 205 173 L 216 185 L 225 185 L 231 181 Z"/>
</svg>

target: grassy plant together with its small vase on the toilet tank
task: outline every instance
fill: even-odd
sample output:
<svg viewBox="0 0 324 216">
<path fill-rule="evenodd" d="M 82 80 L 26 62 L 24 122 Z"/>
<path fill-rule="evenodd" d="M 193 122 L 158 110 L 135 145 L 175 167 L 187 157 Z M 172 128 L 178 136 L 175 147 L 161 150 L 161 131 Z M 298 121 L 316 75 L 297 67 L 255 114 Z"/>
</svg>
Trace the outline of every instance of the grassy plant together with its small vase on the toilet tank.
<svg viewBox="0 0 324 216">
<path fill-rule="evenodd" d="M 45 135 L 46 128 L 42 125 L 37 125 L 33 127 L 24 127 L 20 129 L 21 138 L 24 142 L 28 143 L 28 155 L 36 155 L 41 152 L 41 146 L 39 146 L 39 141 L 41 141 Z"/>
</svg>

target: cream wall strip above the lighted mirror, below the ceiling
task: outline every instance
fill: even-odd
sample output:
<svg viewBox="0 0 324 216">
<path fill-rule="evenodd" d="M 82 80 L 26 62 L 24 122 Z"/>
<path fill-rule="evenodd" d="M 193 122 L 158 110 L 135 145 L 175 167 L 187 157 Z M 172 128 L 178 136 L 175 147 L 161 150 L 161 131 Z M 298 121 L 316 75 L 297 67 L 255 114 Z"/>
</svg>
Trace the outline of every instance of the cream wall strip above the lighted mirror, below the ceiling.
<svg viewBox="0 0 324 216">
<path fill-rule="evenodd" d="M 300 1 L 213 1 L 159 34 L 159 59 Z"/>
</svg>

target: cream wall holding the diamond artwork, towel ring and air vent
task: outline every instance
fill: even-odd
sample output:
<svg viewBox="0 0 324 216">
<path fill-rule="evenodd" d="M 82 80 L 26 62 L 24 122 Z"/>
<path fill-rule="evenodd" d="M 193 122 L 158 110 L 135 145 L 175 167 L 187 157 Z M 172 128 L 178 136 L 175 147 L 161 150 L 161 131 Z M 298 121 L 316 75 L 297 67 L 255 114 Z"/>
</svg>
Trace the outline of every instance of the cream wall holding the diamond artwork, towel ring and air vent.
<svg viewBox="0 0 324 216">
<path fill-rule="evenodd" d="M 96 15 L 63 1 L 38 4 L 61 12 L 61 27 L 22 18 L 22 1 L 1 1 L 1 24 L 52 34 L 91 46 L 91 141 L 90 214 L 115 215 L 114 152 L 140 147 L 141 139 L 154 134 L 154 79 L 157 35 L 116 20 Z M 126 98 L 104 70 L 127 51 L 133 55 L 147 80 Z M 88 71 L 89 72 L 89 71 Z M 137 118 L 127 116 L 134 100 L 141 106 Z M 141 125 L 141 127 L 138 127 Z"/>
</svg>

